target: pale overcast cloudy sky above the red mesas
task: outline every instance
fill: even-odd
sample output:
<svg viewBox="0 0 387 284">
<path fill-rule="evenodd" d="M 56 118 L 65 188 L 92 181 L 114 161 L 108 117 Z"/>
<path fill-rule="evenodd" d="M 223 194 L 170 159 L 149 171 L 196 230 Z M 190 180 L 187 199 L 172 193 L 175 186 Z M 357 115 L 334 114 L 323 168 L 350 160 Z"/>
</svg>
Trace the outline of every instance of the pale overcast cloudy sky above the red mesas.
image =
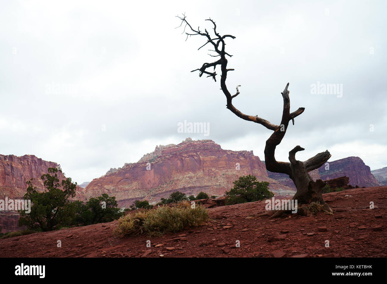
<svg viewBox="0 0 387 284">
<path fill-rule="evenodd" d="M 227 84 L 242 86 L 241 112 L 279 124 L 287 82 L 291 111 L 305 107 L 277 160 L 301 145 L 299 160 L 328 149 L 331 160 L 387 166 L 387 2 L 182 2 L 3 1 L 0 154 L 60 163 L 79 184 L 188 136 L 263 160 L 272 131 L 226 109 L 219 81 L 190 73 L 214 58 L 197 51 L 204 38 L 175 29 L 185 12 L 193 27 L 210 31 L 211 17 L 236 36 Z M 209 135 L 178 133 L 184 120 L 208 123 Z"/>
</svg>

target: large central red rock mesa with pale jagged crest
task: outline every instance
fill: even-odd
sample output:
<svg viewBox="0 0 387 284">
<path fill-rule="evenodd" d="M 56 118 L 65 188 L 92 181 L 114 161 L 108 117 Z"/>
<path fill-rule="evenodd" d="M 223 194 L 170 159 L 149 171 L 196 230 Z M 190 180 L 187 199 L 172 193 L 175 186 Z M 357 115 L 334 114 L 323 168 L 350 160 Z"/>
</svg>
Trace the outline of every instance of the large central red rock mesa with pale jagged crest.
<svg viewBox="0 0 387 284">
<path fill-rule="evenodd" d="M 265 165 L 253 151 L 223 150 L 212 140 L 189 138 L 178 145 L 156 146 L 139 162 L 92 180 L 80 195 L 89 198 L 107 193 L 125 207 L 136 199 L 158 201 L 176 190 L 187 195 L 205 191 L 219 196 L 230 190 L 238 177 L 249 174 L 268 181 L 275 194 L 294 194 L 267 176 Z"/>
</svg>

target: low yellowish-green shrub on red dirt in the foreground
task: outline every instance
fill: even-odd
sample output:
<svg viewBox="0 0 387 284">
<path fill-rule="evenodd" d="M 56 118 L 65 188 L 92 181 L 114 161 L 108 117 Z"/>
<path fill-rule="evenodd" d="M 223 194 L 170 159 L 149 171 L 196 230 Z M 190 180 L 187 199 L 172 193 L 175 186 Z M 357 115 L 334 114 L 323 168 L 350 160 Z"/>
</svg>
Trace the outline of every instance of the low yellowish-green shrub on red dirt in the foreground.
<svg viewBox="0 0 387 284">
<path fill-rule="evenodd" d="M 194 209 L 188 201 L 177 202 L 156 209 L 140 209 L 135 213 L 118 219 L 114 234 L 137 236 L 143 233 L 160 236 L 167 232 L 183 230 L 185 226 L 200 226 L 208 219 L 207 209 L 197 205 Z"/>
</svg>

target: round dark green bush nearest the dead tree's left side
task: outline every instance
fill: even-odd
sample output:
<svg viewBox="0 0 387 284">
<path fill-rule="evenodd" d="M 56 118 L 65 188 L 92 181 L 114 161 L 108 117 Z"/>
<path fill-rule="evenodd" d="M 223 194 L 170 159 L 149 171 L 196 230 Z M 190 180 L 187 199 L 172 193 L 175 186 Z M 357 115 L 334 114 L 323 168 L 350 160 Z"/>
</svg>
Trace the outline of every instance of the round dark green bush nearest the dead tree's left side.
<svg viewBox="0 0 387 284">
<path fill-rule="evenodd" d="M 269 182 L 260 182 L 255 175 L 239 177 L 234 187 L 225 192 L 226 205 L 270 199 L 274 196 L 269 190 Z"/>
</svg>

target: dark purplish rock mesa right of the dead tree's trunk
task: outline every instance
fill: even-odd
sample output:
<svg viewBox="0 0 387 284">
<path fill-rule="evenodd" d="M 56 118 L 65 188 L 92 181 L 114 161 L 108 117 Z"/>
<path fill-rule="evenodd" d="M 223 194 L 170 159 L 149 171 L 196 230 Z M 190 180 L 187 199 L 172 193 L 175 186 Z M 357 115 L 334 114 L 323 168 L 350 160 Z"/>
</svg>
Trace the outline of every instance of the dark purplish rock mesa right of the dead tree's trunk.
<svg viewBox="0 0 387 284">
<path fill-rule="evenodd" d="M 370 167 L 368 167 L 359 157 L 348 157 L 328 163 L 329 170 L 325 170 L 325 165 L 322 165 L 319 168 L 322 180 L 331 180 L 347 176 L 349 177 L 349 184 L 352 186 L 379 186 L 378 181 L 371 173 Z"/>
</svg>

